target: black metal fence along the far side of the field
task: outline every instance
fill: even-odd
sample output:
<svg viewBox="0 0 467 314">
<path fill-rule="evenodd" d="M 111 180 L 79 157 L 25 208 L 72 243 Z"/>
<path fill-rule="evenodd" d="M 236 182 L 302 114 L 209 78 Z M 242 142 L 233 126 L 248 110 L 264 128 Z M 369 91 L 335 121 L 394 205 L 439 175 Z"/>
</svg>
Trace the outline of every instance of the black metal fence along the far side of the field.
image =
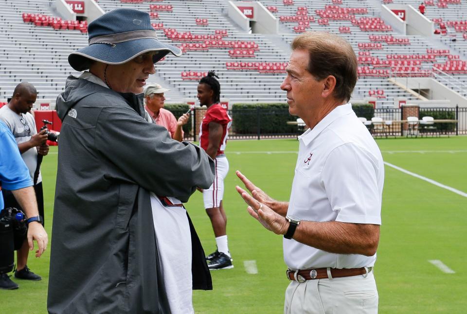
<svg viewBox="0 0 467 314">
<path fill-rule="evenodd" d="M 170 109 L 177 119 L 186 110 L 185 108 Z M 183 126 L 185 140 L 195 140 L 196 110 L 192 111 L 190 121 Z M 233 119 L 232 126 L 229 129 L 229 139 L 295 138 L 304 131 L 304 125 L 297 123 L 298 117 L 291 116 L 288 113 L 288 108 L 234 108 L 229 110 L 228 113 Z M 407 122 L 403 119 L 400 108 L 359 108 L 356 114 L 358 117 L 364 117 L 368 120 L 367 128 L 377 138 L 400 137 L 405 134 L 403 132 L 404 126 L 407 129 Z M 431 116 L 434 120 L 457 120 L 455 123 L 435 123 L 436 135 L 467 134 L 467 107 L 420 108 L 418 119 L 421 120 L 425 116 Z M 370 123 L 374 117 L 381 118 L 383 122 Z M 421 128 L 420 126 L 420 130 Z M 435 134 L 431 132 L 426 135 L 434 136 Z"/>
</svg>

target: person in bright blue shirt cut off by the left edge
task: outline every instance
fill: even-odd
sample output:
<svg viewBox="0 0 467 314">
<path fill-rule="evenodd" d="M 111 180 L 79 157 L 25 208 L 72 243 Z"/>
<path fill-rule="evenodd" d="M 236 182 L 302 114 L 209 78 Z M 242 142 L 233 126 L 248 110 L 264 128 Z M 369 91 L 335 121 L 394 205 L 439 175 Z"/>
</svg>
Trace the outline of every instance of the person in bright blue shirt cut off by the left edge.
<svg viewBox="0 0 467 314">
<path fill-rule="evenodd" d="M 27 217 L 35 220 L 38 215 L 34 189 L 31 187 L 31 177 L 28 169 L 21 159 L 17 143 L 6 125 L 0 121 L 0 187 L 13 192 Z M 0 189 L 0 211 L 4 208 Z M 28 229 L 27 244 L 31 250 L 34 248 L 33 239 L 37 241 L 36 257 L 42 255 L 47 247 L 47 233 L 38 222 L 31 222 Z M 0 261 L 0 265 L 2 265 Z M 7 274 L 0 274 L 0 289 L 17 289 Z"/>
</svg>

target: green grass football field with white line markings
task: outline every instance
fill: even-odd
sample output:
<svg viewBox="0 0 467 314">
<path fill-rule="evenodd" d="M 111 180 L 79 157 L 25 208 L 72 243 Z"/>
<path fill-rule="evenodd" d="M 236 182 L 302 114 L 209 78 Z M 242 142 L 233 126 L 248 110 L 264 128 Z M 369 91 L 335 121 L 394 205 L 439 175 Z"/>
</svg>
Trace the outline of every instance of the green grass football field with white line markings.
<svg viewBox="0 0 467 314">
<path fill-rule="evenodd" d="M 377 143 L 386 162 L 467 192 L 467 137 L 384 139 Z M 213 291 L 195 291 L 196 313 L 282 313 L 288 284 L 282 238 L 261 227 L 247 213 L 234 190 L 240 183 L 234 171 L 242 171 L 272 197 L 287 200 L 297 150 L 297 140 L 229 142 L 230 172 L 225 181 L 224 207 L 235 267 L 212 273 Z M 56 152 L 53 147 L 42 166 L 49 235 Z M 186 207 L 206 253 L 211 253 L 215 240 L 201 194 L 195 193 Z M 380 313 L 466 312 L 466 208 L 465 196 L 386 167 L 383 225 L 375 267 Z M 18 290 L 0 291 L 0 313 L 47 312 L 49 256 L 47 251 L 40 259 L 31 257 L 28 262 L 42 281 L 16 280 Z M 440 260 L 455 273 L 444 273 L 429 260 Z M 256 261 L 258 274 L 248 274 L 244 261 Z"/>
</svg>

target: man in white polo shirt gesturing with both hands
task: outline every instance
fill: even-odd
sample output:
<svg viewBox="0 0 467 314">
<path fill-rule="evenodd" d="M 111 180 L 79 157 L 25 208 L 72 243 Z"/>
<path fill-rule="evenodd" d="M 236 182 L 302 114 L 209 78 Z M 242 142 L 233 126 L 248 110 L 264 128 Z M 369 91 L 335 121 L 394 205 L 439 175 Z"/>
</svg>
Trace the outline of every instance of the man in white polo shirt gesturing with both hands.
<svg viewBox="0 0 467 314">
<path fill-rule="evenodd" d="M 237 172 L 248 211 L 284 235 L 291 280 L 285 314 L 377 313 L 373 277 L 384 165 L 376 142 L 347 103 L 357 59 L 338 35 L 307 32 L 292 42 L 287 77 L 291 115 L 310 128 L 299 137 L 290 202 L 278 202 Z"/>
</svg>

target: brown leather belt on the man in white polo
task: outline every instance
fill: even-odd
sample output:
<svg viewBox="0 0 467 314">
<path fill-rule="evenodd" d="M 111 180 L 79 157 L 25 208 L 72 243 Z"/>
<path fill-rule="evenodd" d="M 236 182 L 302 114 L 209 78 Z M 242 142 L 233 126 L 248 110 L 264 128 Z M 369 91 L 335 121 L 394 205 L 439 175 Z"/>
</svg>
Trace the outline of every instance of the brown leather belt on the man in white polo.
<svg viewBox="0 0 467 314">
<path fill-rule="evenodd" d="M 315 269 L 300 269 L 293 271 L 287 269 L 287 279 L 305 282 L 305 280 L 313 279 L 333 279 L 341 277 L 351 277 L 359 275 L 368 275 L 373 267 L 360 268 L 315 268 Z M 365 276 L 366 277 L 366 276 Z"/>
</svg>

